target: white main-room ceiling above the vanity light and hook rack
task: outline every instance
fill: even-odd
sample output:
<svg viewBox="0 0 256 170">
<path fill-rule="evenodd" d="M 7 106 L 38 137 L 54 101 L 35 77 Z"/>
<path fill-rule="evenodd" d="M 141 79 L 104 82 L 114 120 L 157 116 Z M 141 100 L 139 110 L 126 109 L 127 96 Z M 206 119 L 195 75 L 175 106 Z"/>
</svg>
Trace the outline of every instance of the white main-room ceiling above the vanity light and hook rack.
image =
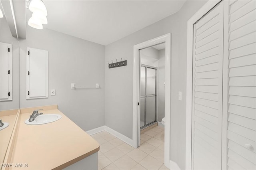
<svg viewBox="0 0 256 170">
<path fill-rule="evenodd" d="M 185 0 L 44 0 L 44 28 L 107 45 L 178 12 Z M 28 10 L 28 9 L 27 9 Z M 27 12 L 27 21 L 31 12 Z"/>
</svg>

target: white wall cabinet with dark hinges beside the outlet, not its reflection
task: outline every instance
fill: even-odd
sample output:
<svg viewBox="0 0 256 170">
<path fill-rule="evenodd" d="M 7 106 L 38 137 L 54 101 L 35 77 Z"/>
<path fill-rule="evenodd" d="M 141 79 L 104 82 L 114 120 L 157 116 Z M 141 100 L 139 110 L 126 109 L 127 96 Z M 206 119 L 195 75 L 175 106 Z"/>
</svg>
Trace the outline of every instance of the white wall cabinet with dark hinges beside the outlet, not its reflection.
<svg viewBox="0 0 256 170">
<path fill-rule="evenodd" d="M 26 98 L 48 97 L 48 51 L 26 49 Z"/>
</svg>

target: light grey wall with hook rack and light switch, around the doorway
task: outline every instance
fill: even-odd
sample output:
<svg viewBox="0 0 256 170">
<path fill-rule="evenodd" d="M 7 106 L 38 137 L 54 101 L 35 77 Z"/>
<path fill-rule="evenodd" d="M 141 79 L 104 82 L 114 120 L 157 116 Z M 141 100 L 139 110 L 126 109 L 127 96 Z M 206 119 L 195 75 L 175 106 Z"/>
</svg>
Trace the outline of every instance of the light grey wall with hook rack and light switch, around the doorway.
<svg viewBox="0 0 256 170">
<path fill-rule="evenodd" d="M 132 138 L 133 46 L 172 33 L 170 157 L 181 169 L 185 169 L 187 21 L 205 3 L 186 1 L 178 13 L 106 46 L 106 62 L 127 59 L 127 66 L 105 67 L 106 126 Z M 178 101 L 178 91 L 182 91 L 182 101 Z"/>
</svg>

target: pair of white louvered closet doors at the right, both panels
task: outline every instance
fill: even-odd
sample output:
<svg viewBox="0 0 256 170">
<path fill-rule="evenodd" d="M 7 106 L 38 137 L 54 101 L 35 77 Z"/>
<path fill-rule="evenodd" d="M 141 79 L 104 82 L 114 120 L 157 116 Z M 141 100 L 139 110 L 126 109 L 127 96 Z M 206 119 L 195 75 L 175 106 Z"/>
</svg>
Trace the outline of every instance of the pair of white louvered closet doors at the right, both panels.
<svg viewBox="0 0 256 170">
<path fill-rule="evenodd" d="M 256 169 L 256 1 L 194 23 L 192 170 Z"/>
</svg>

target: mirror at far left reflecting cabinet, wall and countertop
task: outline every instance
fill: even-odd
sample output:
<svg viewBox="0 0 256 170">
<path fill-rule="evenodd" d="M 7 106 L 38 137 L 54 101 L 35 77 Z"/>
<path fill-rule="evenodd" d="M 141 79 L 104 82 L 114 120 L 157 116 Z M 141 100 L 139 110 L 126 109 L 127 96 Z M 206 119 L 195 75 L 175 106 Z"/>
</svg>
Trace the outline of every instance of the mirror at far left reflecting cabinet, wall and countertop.
<svg viewBox="0 0 256 170">
<path fill-rule="evenodd" d="M 2 2 L 2 5 L 4 2 Z M 0 6 L 2 10 L 2 6 Z M 4 11 L 4 10 L 2 10 Z M 6 11 L 4 11 L 6 12 Z M 2 122 L 4 125 L 2 127 L 6 127 L 7 124 L 9 124 L 8 127 L 2 128 L 0 130 L 0 163 L 4 161 L 4 157 L 6 155 L 6 150 L 8 147 L 8 144 L 10 142 L 11 134 L 14 128 L 14 123 L 16 121 L 16 116 L 18 113 L 18 109 L 20 108 L 20 95 L 19 95 L 19 44 L 17 38 L 14 38 L 11 34 L 10 28 L 9 28 L 9 22 L 6 20 L 5 16 L 3 18 L 0 18 L 0 42 L 1 42 L 1 49 L 0 49 L 0 70 L 8 69 L 10 70 L 11 76 L 6 76 L 6 74 L 2 73 L 0 74 L 0 119 L 2 119 Z M 10 46 L 10 52 L 12 52 L 12 65 L 9 65 L 7 67 L 6 62 L 3 62 L 2 60 L 4 58 L 3 55 L 6 55 L 8 53 L 4 53 L 8 50 L 5 46 Z M 11 48 L 12 47 L 12 48 Z M 2 49 L 3 48 L 3 49 Z M 10 59 L 10 58 L 9 58 Z M 10 62 L 8 62 L 10 64 Z M 5 64 L 5 65 L 2 65 Z M 4 68 L 5 67 L 5 68 Z M 12 67 L 12 69 L 10 69 Z M 7 73 L 8 73 L 7 70 Z M 6 82 L 8 81 L 8 82 Z M 7 85 L 8 84 L 8 85 Z M 9 85 L 12 84 L 12 87 Z M 5 85 L 5 87 L 3 87 Z M 6 86 L 7 85 L 7 86 Z M 10 92 L 10 96 L 6 91 Z M 2 94 L 3 93 L 3 94 Z M 5 94 L 5 95 L 4 95 Z M 12 97 L 12 98 L 11 98 Z M 4 99 L 3 99 L 4 98 Z"/>
</svg>

